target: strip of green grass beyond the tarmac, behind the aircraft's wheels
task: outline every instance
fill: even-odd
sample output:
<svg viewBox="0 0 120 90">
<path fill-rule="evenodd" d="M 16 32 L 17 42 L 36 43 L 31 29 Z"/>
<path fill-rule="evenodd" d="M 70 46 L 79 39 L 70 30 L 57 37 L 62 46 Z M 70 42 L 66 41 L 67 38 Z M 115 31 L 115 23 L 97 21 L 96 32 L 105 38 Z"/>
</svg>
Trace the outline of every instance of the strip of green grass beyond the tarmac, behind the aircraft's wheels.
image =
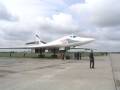
<svg viewBox="0 0 120 90">
<path fill-rule="evenodd" d="M 11 55 L 10 55 L 11 54 Z M 0 52 L 0 57 L 17 57 L 17 58 L 55 58 L 55 57 L 51 57 L 51 55 L 53 55 L 52 53 L 43 53 L 45 55 L 45 57 L 41 57 L 38 53 L 32 53 L 32 52 L 25 52 L 25 56 L 24 56 L 24 52 Z M 67 56 L 70 56 L 73 53 L 66 53 Z M 105 53 L 100 53 L 100 52 L 96 52 L 94 53 L 95 56 L 103 56 L 106 55 Z M 89 53 L 88 52 L 82 52 L 81 53 L 82 57 L 88 57 Z"/>
</svg>

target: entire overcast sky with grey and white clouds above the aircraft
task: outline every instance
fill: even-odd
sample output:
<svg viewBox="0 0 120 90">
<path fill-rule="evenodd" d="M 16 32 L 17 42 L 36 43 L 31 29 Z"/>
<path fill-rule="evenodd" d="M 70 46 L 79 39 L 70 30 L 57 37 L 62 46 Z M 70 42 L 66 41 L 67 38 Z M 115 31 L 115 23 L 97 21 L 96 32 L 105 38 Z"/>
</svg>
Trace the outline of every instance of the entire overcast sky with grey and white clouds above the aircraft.
<svg viewBox="0 0 120 90">
<path fill-rule="evenodd" d="M 0 47 L 69 34 L 94 37 L 82 47 L 120 51 L 120 0 L 0 0 Z"/>
</svg>

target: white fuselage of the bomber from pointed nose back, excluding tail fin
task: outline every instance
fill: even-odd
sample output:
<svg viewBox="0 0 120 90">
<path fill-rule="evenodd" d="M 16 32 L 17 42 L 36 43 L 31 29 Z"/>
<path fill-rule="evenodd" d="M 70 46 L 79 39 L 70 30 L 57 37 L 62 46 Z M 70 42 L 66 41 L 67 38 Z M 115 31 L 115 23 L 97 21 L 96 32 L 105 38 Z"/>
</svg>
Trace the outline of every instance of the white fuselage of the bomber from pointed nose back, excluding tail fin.
<svg viewBox="0 0 120 90">
<path fill-rule="evenodd" d="M 73 42 L 70 43 L 68 42 L 68 40 L 71 40 Z M 46 44 L 38 44 L 38 45 L 32 45 L 28 47 L 31 47 L 31 48 L 58 47 L 60 48 L 60 47 L 80 46 L 80 45 L 90 43 L 92 41 L 94 41 L 94 38 L 85 38 L 85 37 L 69 35 L 69 36 L 64 36 L 52 42 L 48 42 Z"/>
</svg>

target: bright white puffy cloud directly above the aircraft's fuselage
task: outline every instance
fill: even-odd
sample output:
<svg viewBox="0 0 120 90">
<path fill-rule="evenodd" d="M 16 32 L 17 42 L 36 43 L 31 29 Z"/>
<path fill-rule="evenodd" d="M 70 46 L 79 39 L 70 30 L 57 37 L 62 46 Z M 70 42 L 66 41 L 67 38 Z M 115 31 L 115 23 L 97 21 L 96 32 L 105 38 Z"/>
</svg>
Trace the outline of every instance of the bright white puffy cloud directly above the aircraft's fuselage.
<svg viewBox="0 0 120 90">
<path fill-rule="evenodd" d="M 76 32 L 78 25 L 70 14 L 59 13 L 53 15 L 51 18 L 40 17 L 38 18 L 39 27 L 41 30 L 52 33 L 65 33 L 65 32 Z"/>
</svg>

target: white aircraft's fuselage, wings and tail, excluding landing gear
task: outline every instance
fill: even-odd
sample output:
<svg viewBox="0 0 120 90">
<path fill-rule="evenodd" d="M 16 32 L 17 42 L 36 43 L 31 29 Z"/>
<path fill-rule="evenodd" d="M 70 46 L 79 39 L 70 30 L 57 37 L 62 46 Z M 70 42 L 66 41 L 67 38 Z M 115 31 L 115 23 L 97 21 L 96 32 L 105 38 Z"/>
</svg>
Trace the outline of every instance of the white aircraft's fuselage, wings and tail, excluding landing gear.
<svg viewBox="0 0 120 90">
<path fill-rule="evenodd" d="M 36 37 L 39 38 L 38 35 L 36 35 Z M 48 43 L 41 41 L 39 38 L 39 41 L 26 43 L 26 46 L 0 48 L 0 49 L 70 48 L 70 47 L 84 45 L 93 42 L 94 40 L 95 40 L 94 38 L 68 35 Z"/>
</svg>

